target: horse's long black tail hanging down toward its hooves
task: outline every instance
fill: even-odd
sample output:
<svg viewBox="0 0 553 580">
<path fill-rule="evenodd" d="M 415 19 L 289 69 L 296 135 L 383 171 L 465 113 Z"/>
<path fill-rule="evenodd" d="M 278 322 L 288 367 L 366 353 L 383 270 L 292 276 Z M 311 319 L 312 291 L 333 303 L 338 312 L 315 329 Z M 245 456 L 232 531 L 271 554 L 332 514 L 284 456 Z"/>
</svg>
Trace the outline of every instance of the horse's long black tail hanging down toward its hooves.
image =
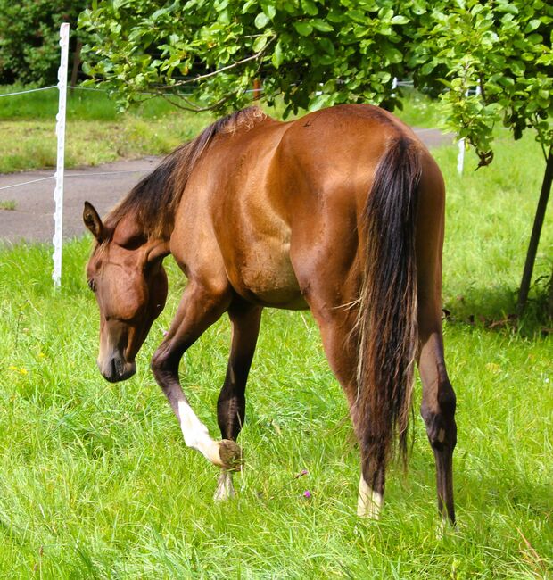
<svg viewBox="0 0 553 580">
<path fill-rule="evenodd" d="M 417 348 L 415 235 L 421 164 L 417 145 L 399 137 L 376 169 L 363 215 L 365 279 L 359 305 L 356 415 L 366 457 L 386 460 L 394 434 L 407 456 Z M 378 461 L 372 461 L 376 468 Z M 371 473 L 369 466 L 369 476 Z"/>
</svg>

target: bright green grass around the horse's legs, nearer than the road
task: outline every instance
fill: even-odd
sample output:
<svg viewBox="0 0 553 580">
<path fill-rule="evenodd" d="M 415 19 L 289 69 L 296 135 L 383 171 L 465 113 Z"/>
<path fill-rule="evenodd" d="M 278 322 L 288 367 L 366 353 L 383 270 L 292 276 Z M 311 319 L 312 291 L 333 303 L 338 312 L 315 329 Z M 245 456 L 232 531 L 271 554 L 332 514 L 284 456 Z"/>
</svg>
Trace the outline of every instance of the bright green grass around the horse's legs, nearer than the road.
<svg viewBox="0 0 553 580">
<path fill-rule="evenodd" d="M 492 166 L 474 172 L 469 156 L 463 177 L 456 147 L 433 153 L 448 188 L 443 302 L 458 394 L 458 530 L 436 534 L 418 382 L 409 471 L 389 469 L 380 521 L 357 518 L 359 454 L 307 312 L 264 312 L 240 436 L 246 466 L 235 500 L 213 503 L 218 470 L 186 449 L 148 369 L 186 282 L 169 257 L 169 301 L 137 374 L 110 385 L 95 366 L 85 236 L 65 246 L 59 291 L 49 246 L 0 248 L 0 577 L 552 576 L 550 210 L 531 301 L 524 317 L 512 314 L 541 151 L 531 137 L 501 135 Z M 212 435 L 229 340 L 223 317 L 181 366 Z"/>
</svg>

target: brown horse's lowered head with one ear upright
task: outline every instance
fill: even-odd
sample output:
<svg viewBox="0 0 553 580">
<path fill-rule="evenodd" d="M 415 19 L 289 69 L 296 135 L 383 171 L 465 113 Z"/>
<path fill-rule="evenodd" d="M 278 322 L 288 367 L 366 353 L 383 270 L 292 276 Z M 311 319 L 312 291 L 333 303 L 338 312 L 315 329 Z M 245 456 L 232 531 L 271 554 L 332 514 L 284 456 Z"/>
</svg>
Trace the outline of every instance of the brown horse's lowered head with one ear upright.
<svg viewBox="0 0 553 580">
<path fill-rule="evenodd" d="M 98 368 L 111 383 L 136 372 L 136 353 L 165 306 L 169 245 L 150 240 L 131 220 L 106 228 L 85 202 L 83 220 L 96 244 L 87 263 L 88 286 L 100 308 Z"/>
</svg>

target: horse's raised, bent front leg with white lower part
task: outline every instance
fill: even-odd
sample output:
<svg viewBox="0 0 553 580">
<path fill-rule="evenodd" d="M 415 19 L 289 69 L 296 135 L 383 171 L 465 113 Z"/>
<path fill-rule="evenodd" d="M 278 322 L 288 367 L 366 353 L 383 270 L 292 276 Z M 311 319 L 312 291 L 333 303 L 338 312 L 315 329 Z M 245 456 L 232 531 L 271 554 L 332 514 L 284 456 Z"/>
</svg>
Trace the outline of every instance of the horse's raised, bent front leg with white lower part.
<svg viewBox="0 0 553 580">
<path fill-rule="evenodd" d="M 220 468 L 237 469 L 241 465 L 240 448 L 234 441 L 218 442 L 210 437 L 208 428 L 186 400 L 178 380 L 178 364 L 186 349 L 227 310 L 231 296 L 229 286 L 214 289 L 191 281 L 186 286 L 169 333 L 153 355 L 152 370 L 177 415 L 186 445 L 201 452 Z"/>
</svg>

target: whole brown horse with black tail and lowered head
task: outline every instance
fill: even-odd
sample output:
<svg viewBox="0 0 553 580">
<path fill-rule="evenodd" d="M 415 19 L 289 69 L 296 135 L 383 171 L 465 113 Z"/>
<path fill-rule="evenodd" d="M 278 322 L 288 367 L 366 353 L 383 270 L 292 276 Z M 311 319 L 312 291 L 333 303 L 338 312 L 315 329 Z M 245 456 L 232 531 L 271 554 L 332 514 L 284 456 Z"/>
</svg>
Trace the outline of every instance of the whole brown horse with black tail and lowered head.
<svg viewBox="0 0 553 580">
<path fill-rule="evenodd" d="M 378 516 L 386 461 L 405 457 L 413 367 L 437 471 L 438 507 L 454 522 L 455 394 L 442 346 L 442 174 L 390 113 L 343 105 L 279 122 L 257 108 L 218 120 L 144 178 L 102 221 L 88 284 L 100 308 L 98 366 L 130 377 L 164 307 L 163 258 L 188 285 L 153 375 L 186 445 L 222 468 L 215 497 L 234 493 L 235 440 L 265 306 L 307 309 L 343 387 L 359 438 L 359 515 Z M 219 395 L 222 441 L 211 439 L 178 380 L 186 349 L 227 311 L 232 344 Z"/>
</svg>

